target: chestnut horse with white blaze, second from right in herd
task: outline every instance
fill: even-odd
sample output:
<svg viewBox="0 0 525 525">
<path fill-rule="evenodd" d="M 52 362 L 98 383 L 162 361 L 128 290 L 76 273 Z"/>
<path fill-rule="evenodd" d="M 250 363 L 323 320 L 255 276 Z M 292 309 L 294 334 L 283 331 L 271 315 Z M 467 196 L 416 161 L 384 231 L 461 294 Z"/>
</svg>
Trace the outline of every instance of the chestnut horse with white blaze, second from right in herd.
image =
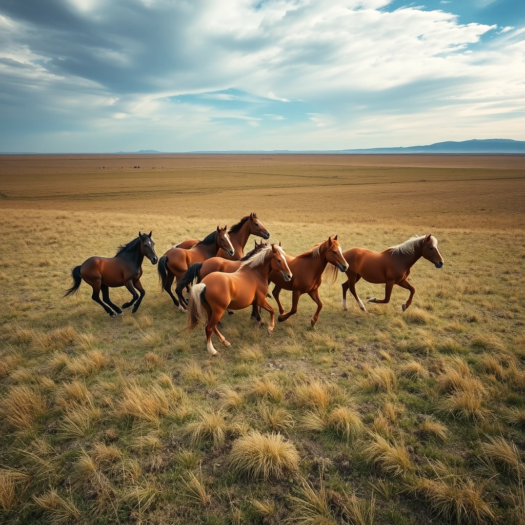
<svg viewBox="0 0 525 525">
<path fill-rule="evenodd" d="M 270 281 L 275 283 L 272 295 L 279 307 L 277 319 L 286 321 L 290 316 L 293 316 L 297 312 L 299 298 L 303 293 L 308 293 L 317 304 L 316 313 L 311 320 L 313 327 L 319 319 L 319 313 L 323 307 L 323 303 L 319 299 L 319 286 L 321 286 L 323 272 L 327 271 L 332 281 L 335 282 L 338 271 L 344 272 L 348 269 L 337 235 L 333 239 L 328 237 L 328 240 L 317 244 L 310 251 L 297 257 L 287 256 L 286 261 L 293 274 L 290 281 L 283 279 L 279 272 L 272 271 L 270 274 Z M 285 309 L 279 301 L 279 293 L 282 289 L 292 291 L 292 308 L 288 313 L 285 313 Z"/>
</svg>

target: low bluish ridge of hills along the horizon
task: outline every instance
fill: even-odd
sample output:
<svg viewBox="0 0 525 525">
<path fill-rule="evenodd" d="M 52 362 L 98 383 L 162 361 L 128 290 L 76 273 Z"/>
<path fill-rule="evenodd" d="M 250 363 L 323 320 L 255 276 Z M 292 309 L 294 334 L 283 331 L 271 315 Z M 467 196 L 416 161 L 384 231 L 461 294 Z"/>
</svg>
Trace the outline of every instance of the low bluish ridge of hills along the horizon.
<svg viewBox="0 0 525 525">
<path fill-rule="evenodd" d="M 348 150 L 202 150 L 202 151 L 117 151 L 114 153 L 76 152 L 76 153 L 29 153 L 29 152 L 0 152 L 0 155 L 158 155 L 158 154 L 298 154 L 298 153 L 324 153 L 324 154 L 411 154 L 411 153 L 521 153 L 525 154 L 525 141 L 511 139 L 473 139 L 463 142 L 436 142 L 425 146 L 403 146 L 397 148 L 365 148 Z"/>
</svg>

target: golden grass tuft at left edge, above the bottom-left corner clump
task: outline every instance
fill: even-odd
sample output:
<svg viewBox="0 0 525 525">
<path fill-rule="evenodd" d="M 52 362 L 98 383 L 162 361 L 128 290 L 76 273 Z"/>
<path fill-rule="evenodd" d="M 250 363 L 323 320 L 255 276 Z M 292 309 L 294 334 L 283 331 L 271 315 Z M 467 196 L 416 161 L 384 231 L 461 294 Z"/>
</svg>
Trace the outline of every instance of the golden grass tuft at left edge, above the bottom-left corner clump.
<svg viewBox="0 0 525 525">
<path fill-rule="evenodd" d="M 47 413 L 47 402 L 34 388 L 13 386 L 0 401 L 0 415 L 17 432 L 33 430 L 37 419 Z"/>
</svg>

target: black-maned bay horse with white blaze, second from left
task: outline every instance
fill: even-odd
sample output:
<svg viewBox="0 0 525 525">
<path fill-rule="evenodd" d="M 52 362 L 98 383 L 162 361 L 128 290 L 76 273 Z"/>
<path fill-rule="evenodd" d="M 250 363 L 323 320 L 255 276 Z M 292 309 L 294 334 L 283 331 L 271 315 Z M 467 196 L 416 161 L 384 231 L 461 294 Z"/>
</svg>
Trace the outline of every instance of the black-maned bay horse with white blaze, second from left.
<svg viewBox="0 0 525 525">
<path fill-rule="evenodd" d="M 177 280 L 180 279 L 188 269 L 188 266 L 195 262 L 202 262 L 210 257 L 214 257 L 221 249 L 224 249 L 230 256 L 233 256 L 235 253 L 232 241 L 230 241 L 229 235 L 226 233 L 226 226 L 224 228 L 217 226 L 214 232 L 207 235 L 190 249 L 170 248 L 160 258 L 157 270 L 159 272 L 161 286 L 163 290 L 169 293 L 176 307 L 184 310 L 186 301 L 184 297 L 182 297 L 182 292 L 177 294 L 178 300 L 173 295 L 171 291 L 173 280 L 175 278 L 177 278 Z"/>
</svg>

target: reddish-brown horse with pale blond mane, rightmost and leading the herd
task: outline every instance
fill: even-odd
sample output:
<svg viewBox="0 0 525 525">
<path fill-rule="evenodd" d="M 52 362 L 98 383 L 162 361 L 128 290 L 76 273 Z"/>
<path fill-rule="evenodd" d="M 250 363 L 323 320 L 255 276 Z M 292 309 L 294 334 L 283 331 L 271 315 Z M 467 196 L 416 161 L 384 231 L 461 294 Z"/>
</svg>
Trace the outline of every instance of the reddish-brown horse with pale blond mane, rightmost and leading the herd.
<svg viewBox="0 0 525 525">
<path fill-rule="evenodd" d="M 410 296 L 402 305 L 405 311 L 411 304 L 415 288 L 407 281 L 410 269 L 418 259 L 424 257 L 432 262 L 436 268 L 443 266 L 443 257 L 437 249 L 437 239 L 431 234 L 412 237 L 404 243 L 387 248 L 381 253 L 365 248 L 352 248 L 343 254 L 348 262 L 346 276 L 348 281 L 343 282 L 343 310 L 346 306 L 346 291 L 350 288 L 352 295 L 359 304 L 359 308 L 366 311 L 363 301 L 355 293 L 355 283 L 361 277 L 372 283 L 385 283 L 384 299 L 369 299 L 369 302 L 387 303 L 394 285 L 410 290 Z"/>
</svg>

